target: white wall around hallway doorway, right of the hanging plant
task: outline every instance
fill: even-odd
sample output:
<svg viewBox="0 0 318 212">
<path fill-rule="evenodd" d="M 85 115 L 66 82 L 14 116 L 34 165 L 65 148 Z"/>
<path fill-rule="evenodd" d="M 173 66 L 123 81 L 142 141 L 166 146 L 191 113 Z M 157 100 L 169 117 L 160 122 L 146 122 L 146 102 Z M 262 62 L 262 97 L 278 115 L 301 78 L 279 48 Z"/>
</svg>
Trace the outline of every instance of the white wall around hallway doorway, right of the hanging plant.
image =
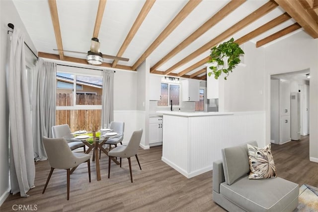
<svg viewBox="0 0 318 212">
<path fill-rule="evenodd" d="M 266 110 L 266 142 L 270 142 L 270 75 L 309 69 L 310 160 L 318 162 L 318 39 L 300 31 L 266 48 L 244 44 L 244 63 L 228 80 L 219 80 L 219 111 Z"/>
</svg>

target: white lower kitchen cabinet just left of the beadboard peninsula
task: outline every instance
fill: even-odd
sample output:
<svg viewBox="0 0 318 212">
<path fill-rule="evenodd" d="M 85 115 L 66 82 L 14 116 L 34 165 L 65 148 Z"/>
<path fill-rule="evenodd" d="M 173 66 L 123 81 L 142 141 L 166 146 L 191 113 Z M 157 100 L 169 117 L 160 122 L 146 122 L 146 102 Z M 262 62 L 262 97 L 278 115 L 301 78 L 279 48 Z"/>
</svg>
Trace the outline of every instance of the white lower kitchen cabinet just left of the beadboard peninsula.
<svg viewBox="0 0 318 212">
<path fill-rule="evenodd" d="M 149 145 L 162 144 L 162 117 L 149 118 Z"/>
</svg>

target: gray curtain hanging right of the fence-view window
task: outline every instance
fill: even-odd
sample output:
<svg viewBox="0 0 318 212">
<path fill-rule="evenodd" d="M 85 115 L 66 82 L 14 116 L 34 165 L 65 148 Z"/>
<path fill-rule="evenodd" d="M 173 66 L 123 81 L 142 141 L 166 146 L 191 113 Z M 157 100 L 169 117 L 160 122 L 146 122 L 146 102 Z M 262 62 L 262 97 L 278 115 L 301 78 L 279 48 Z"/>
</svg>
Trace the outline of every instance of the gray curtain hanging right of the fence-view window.
<svg viewBox="0 0 318 212">
<path fill-rule="evenodd" d="M 101 110 L 102 127 L 107 127 L 114 120 L 114 72 L 113 70 L 104 70 Z"/>
</svg>

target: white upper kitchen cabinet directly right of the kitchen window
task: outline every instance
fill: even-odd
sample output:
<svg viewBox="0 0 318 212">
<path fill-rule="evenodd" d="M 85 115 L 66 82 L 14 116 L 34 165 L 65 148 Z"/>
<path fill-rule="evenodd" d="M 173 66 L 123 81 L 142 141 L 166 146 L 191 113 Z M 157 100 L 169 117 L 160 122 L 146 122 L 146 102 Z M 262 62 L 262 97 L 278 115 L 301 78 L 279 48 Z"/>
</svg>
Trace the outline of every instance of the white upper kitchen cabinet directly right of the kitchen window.
<svg viewBox="0 0 318 212">
<path fill-rule="evenodd" d="M 200 81 L 185 79 L 182 84 L 182 101 L 196 102 L 200 97 Z"/>
</svg>

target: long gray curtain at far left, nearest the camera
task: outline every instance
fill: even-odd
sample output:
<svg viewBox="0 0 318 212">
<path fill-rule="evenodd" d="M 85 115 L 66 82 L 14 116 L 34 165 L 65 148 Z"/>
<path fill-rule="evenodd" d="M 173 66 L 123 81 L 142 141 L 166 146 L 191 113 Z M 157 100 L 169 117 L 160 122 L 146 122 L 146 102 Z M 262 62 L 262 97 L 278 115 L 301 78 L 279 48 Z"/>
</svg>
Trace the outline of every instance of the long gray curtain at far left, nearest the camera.
<svg viewBox="0 0 318 212">
<path fill-rule="evenodd" d="M 23 35 L 14 29 L 8 67 L 10 182 L 11 193 L 28 197 L 35 187 L 35 165 L 24 48 Z"/>
</svg>

